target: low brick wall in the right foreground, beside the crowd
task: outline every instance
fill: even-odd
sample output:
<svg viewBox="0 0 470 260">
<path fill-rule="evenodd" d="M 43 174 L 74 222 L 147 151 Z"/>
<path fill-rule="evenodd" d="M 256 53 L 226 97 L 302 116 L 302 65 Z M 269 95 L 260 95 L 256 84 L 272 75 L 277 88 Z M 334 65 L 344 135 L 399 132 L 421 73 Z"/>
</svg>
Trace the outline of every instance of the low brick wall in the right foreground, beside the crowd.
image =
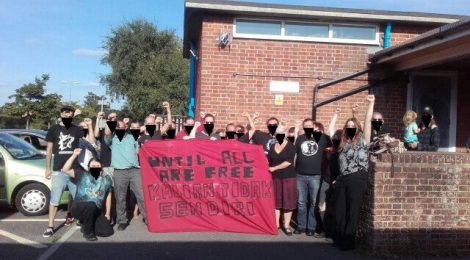
<svg viewBox="0 0 470 260">
<path fill-rule="evenodd" d="M 392 172 L 393 167 L 393 172 Z M 470 154 L 406 152 L 372 163 L 360 236 L 377 255 L 470 255 Z"/>
</svg>

